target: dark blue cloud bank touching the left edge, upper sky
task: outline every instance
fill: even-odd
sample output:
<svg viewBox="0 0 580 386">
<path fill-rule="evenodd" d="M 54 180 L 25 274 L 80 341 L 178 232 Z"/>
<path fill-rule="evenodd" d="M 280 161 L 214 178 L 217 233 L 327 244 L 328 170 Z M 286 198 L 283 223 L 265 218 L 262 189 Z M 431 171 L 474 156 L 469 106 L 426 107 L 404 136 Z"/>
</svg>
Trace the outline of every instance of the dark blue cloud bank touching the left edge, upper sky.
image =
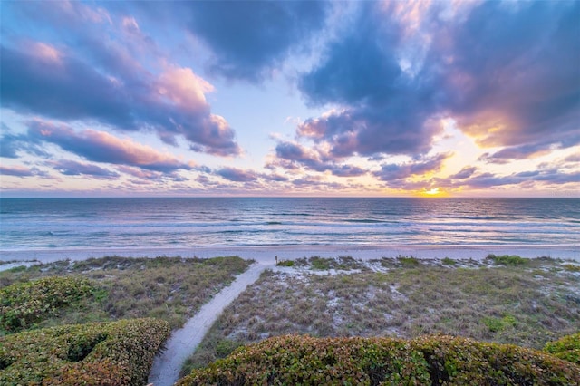
<svg viewBox="0 0 580 386">
<path fill-rule="evenodd" d="M 85 63 L 60 53 L 47 56 L 35 46 L 32 44 L 26 52 L 4 45 L 0 48 L 3 106 L 63 120 L 96 118 L 135 128 L 125 103 L 127 95 L 123 97 L 124 91 L 114 82 Z M 60 59 L 54 60 L 53 56 Z"/>
</svg>

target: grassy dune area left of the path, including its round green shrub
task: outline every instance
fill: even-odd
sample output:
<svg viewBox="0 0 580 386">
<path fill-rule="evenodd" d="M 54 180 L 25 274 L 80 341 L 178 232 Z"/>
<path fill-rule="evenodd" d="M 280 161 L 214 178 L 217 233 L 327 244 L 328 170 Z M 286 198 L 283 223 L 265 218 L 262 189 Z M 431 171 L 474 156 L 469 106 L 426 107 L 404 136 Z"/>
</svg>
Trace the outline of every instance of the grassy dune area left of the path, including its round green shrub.
<svg viewBox="0 0 580 386">
<path fill-rule="evenodd" d="M 142 317 L 160 318 L 178 328 L 249 264 L 236 256 L 111 256 L 15 267 L 0 272 L 0 306 L 9 310 L 0 319 L 0 335 L 2 329 L 11 333 L 22 327 Z"/>
</svg>

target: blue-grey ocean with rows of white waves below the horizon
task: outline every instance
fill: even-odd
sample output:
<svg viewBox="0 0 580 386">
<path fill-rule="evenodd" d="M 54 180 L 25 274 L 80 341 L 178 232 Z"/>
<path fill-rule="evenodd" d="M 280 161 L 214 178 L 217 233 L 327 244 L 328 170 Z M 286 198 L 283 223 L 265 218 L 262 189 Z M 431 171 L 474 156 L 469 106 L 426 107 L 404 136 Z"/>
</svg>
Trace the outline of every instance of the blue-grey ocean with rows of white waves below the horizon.
<svg viewBox="0 0 580 386">
<path fill-rule="evenodd" d="M 0 252 L 579 246 L 580 198 L 2 198 Z"/>
</svg>

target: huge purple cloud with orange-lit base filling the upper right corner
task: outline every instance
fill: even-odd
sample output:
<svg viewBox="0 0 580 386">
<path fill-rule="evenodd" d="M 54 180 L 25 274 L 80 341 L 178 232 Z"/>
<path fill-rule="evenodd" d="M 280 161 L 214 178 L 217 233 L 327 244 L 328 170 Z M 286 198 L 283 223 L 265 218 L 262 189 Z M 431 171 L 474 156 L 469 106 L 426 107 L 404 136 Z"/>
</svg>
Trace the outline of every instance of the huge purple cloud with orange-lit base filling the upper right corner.
<svg viewBox="0 0 580 386">
<path fill-rule="evenodd" d="M 447 107 L 459 128 L 480 145 L 515 147 L 498 158 L 579 143 L 579 19 L 577 2 L 482 2 L 464 22 L 440 28 L 430 61 L 446 64 Z"/>
</svg>

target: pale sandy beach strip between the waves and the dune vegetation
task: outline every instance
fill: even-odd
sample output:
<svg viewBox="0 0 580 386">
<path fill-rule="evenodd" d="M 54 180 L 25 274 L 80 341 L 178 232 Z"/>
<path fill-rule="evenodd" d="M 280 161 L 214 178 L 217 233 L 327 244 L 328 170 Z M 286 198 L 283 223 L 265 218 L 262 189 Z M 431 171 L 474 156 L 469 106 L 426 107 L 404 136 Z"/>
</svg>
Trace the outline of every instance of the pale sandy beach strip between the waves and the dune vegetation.
<svg viewBox="0 0 580 386">
<path fill-rule="evenodd" d="M 38 261 L 51 263 L 60 260 L 86 260 L 91 257 L 128 256 L 182 256 L 209 258 L 216 256 L 239 256 L 254 259 L 257 263 L 271 265 L 275 256 L 280 260 L 302 257 L 352 256 L 355 259 L 372 260 L 381 257 L 414 256 L 419 259 L 475 259 L 482 260 L 489 254 L 517 255 L 526 258 L 549 256 L 580 262 L 580 246 L 546 245 L 453 245 L 453 246 L 192 246 L 192 247 L 130 247 L 130 248 L 76 248 L 2 250 L 2 261 Z"/>
</svg>

